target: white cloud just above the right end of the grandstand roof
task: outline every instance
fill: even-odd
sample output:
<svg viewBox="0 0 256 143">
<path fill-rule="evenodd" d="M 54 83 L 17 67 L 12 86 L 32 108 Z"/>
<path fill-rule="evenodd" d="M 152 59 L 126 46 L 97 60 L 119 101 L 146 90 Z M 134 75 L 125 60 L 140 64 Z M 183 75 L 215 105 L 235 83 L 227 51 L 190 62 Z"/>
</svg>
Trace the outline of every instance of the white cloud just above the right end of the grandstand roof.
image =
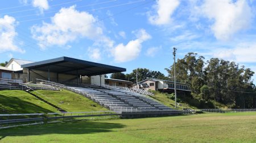
<svg viewBox="0 0 256 143">
<path fill-rule="evenodd" d="M 127 45 L 118 44 L 113 49 L 115 62 L 127 62 L 138 57 L 141 53 L 142 42 L 151 38 L 144 29 L 133 32 L 137 36 L 136 40 L 131 40 Z"/>
</svg>

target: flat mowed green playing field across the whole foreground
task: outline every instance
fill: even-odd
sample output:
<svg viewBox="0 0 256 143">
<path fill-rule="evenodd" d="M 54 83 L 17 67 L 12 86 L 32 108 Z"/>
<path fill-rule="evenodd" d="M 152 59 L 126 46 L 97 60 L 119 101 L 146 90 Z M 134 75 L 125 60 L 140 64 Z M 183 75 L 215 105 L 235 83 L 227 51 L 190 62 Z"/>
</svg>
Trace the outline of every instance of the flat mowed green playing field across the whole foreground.
<svg viewBox="0 0 256 143">
<path fill-rule="evenodd" d="M 256 112 L 51 123 L 0 130 L 0 142 L 256 142 Z"/>
</svg>

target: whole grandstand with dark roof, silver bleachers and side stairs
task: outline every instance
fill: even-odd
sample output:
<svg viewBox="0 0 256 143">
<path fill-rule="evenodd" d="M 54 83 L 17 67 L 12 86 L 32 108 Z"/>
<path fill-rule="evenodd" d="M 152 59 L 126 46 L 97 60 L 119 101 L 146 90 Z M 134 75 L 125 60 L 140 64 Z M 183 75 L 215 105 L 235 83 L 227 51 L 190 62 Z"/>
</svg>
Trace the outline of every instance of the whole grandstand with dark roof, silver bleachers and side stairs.
<svg viewBox="0 0 256 143">
<path fill-rule="evenodd" d="M 125 68 L 69 57 L 30 62 L 20 67 L 23 69 L 23 81 L 27 83 L 21 80 L 1 80 L 0 88 L 22 89 L 29 93 L 38 89 L 67 89 L 115 112 L 172 110 L 148 97 L 154 94 L 147 90 L 105 84 L 105 74 L 123 72 L 126 71 Z M 35 97 L 53 106 L 48 101 Z"/>
</svg>

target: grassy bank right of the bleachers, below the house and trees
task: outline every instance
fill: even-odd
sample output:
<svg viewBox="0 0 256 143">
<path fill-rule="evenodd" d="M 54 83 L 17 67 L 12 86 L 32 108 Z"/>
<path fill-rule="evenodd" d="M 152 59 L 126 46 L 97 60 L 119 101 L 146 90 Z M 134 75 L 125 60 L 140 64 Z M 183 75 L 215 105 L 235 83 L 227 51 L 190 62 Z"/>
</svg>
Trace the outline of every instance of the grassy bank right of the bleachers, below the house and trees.
<svg viewBox="0 0 256 143">
<path fill-rule="evenodd" d="M 174 101 L 174 96 L 172 96 L 171 94 L 167 94 L 167 93 L 161 93 L 158 91 L 152 91 L 152 93 L 154 93 L 154 96 L 150 96 L 162 103 L 164 103 L 164 105 L 174 108 L 175 105 L 175 101 Z M 205 102 L 203 100 L 199 100 L 199 99 L 195 99 L 193 97 L 185 97 L 185 96 L 179 96 L 177 95 L 177 108 L 178 109 L 214 109 L 214 101 L 208 101 Z M 216 109 L 222 109 L 222 108 L 226 108 L 225 105 L 216 102 Z"/>
</svg>

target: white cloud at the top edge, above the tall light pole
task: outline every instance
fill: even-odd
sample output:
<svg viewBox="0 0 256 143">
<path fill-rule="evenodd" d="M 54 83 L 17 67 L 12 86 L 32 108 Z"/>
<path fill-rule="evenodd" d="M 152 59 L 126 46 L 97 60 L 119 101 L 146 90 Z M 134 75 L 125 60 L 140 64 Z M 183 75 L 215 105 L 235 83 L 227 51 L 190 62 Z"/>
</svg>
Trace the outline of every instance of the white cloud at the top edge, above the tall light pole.
<svg viewBox="0 0 256 143">
<path fill-rule="evenodd" d="M 154 5 L 154 14 L 152 11 L 148 12 L 148 20 L 154 25 L 170 24 L 171 15 L 179 6 L 179 0 L 158 0 Z"/>
</svg>

